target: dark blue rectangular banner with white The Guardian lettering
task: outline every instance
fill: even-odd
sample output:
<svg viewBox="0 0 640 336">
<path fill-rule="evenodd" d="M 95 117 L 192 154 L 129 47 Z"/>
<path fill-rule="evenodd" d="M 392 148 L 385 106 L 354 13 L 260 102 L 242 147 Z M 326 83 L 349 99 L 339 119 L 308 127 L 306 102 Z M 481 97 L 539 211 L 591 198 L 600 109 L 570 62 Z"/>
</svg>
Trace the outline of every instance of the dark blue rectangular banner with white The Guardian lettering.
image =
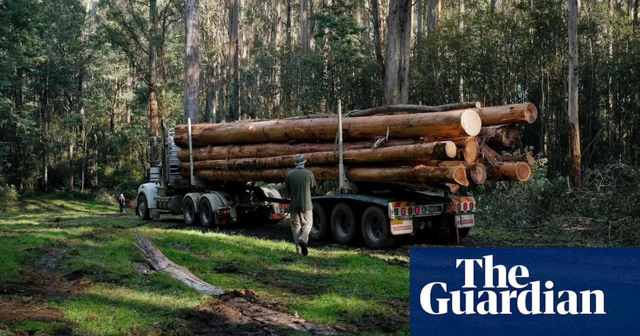
<svg viewBox="0 0 640 336">
<path fill-rule="evenodd" d="M 411 335 L 639 335 L 640 248 L 412 248 Z"/>
</svg>

